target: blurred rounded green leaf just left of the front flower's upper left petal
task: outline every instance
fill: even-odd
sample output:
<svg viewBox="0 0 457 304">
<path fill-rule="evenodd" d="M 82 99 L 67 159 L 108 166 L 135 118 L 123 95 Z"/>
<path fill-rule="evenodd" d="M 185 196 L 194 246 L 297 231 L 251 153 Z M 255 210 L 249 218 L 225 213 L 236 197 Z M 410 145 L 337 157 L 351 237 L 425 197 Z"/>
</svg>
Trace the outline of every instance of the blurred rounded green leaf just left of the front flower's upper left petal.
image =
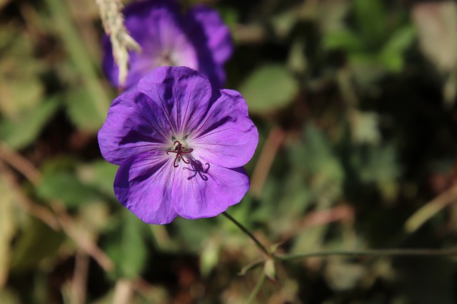
<svg viewBox="0 0 457 304">
<path fill-rule="evenodd" d="M 103 125 L 106 115 L 100 114 L 91 98 L 89 92 L 84 89 L 71 92 L 66 98 L 66 112 L 76 127 L 95 133 Z"/>
</svg>

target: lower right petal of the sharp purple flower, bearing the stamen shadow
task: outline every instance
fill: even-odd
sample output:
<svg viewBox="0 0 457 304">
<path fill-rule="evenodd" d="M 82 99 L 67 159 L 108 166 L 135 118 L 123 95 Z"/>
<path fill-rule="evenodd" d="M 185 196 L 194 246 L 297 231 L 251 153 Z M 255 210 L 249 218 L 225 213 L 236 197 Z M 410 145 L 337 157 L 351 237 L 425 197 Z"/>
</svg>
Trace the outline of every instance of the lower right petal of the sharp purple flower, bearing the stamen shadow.
<svg viewBox="0 0 457 304">
<path fill-rule="evenodd" d="M 216 216 L 238 204 L 248 189 L 249 179 L 243 168 L 226 169 L 194 160 L 193 167 L 177 168 L 172 197 L 179 216 L 199 219 Z"/>
</svg>

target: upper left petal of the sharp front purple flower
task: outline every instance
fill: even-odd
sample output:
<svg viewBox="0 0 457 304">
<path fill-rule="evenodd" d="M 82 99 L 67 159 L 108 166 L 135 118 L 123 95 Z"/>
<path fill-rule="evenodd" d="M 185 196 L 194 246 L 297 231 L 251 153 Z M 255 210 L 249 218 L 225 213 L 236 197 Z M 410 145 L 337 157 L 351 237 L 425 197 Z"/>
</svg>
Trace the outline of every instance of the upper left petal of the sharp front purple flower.
<svg viewBox="0 0 457 304">
<path fill-rule="evenodd" d="M 173 142 L 164 112 L 143 93 L 125 93 L 116 98 L 99 131 L 103 157 L 121 164 L 132 155 L 151 150 L 166 151 Z"/>
</svg>

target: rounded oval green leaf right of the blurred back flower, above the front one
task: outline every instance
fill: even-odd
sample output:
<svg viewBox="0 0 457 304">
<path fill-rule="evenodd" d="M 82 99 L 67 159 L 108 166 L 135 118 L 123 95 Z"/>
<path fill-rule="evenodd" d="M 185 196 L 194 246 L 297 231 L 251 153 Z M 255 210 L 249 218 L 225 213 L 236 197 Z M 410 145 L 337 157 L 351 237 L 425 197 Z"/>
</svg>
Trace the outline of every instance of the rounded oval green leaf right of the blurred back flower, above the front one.
<svg viewBox="0 0 457 304">
<path fill-rule="evenodd" d="M 271 112 L 291 103 L 298 85 L 286 66 L 271 64 L 254 70 L 240 92 L 252 112 Z"/>
</svg>

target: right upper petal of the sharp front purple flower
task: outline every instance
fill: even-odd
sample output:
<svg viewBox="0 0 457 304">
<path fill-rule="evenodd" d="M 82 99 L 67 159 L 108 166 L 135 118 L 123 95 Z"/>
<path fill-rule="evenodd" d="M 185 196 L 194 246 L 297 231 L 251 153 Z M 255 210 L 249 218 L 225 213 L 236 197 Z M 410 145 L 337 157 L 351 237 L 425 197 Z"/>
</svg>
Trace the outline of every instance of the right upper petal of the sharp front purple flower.
<svg viewBox="0 0 457 304">
<path fill-rule="evenodd" d="M 197 158 L 226 168 L 246 164 L 258 143 L 257 128 L 248 117 L 246 101 L 235 90 L 221 90 L 221 97 L 189 137 Z"/>
</svg>

